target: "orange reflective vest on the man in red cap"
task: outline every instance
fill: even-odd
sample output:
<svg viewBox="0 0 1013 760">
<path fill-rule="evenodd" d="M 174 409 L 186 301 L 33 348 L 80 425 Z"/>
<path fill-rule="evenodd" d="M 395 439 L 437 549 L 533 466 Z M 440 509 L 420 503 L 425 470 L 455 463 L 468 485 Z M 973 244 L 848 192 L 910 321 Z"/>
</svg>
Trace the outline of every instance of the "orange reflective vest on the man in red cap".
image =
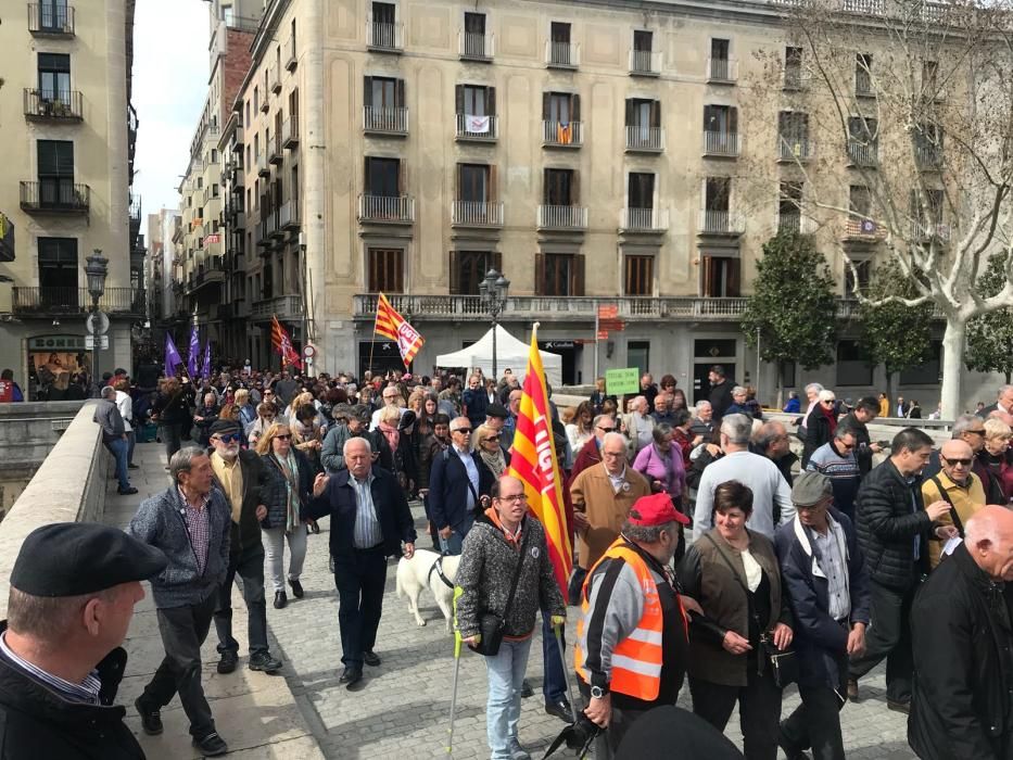
<svg viewBox="0 0 1013 760">
<path fill-rule="evenodd" d="M 588 584 L 595 569 L 606 559 L 623 559 L 636 573 L 636 580 L 644 593 L 644 611 L 636 628 L 629 636 L 619 642 L 612 649 L 612 676 L 609 689 L 619 692 L 637 699 L 651 701 L 658 698 L 661 691 L 661 637 L 662 616 L 661 600 L 658 596 L 658 585 L 647 567 L 647 562 L 640 554 L 631 549 L 620 536 L 595 562 L 587 572 L 584 587 L 581 591 L 581 619 L 577 623 L 577 645 L 573 647 L 577 672 L 584 683 L 591 683 L 591 673 L 584 667 L 587 654 L 585 621 L 590 615 L 591 605 L 587 601 Z M 678 598 L 678 597 L 676 597 Z M 680 603 L 680 611 L 682 605 Z"/>
</svg>

